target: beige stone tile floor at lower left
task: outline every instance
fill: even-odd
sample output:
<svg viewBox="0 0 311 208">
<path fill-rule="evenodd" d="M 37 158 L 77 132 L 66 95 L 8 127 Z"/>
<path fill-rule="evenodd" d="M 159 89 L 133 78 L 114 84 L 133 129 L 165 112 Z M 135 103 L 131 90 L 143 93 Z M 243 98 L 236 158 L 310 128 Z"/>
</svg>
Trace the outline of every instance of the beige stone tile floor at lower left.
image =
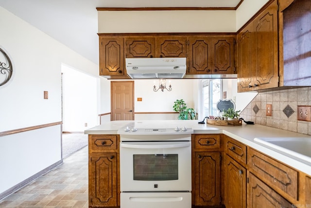
<svg viewBox="0 0 311 208">
<path fill-rule="evenodd" d="M 87 147 L 0 200 L 0 208 L 88 208 Z"/>
</svg>

